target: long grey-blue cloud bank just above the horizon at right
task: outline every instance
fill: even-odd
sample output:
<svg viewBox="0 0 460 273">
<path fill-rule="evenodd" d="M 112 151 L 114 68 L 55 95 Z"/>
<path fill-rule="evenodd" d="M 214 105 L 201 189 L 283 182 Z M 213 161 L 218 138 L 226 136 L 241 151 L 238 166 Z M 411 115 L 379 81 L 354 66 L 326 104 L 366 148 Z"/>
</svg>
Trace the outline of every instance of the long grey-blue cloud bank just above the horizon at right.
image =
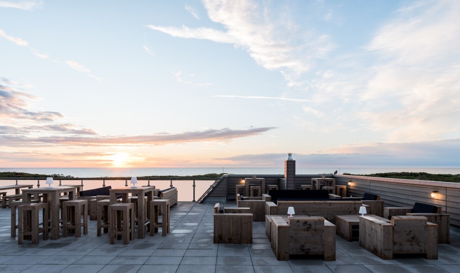
<svg viewBox="0 0 460 273">
<path fill-rule="evenodd" d="M 310 154 L 293 153 L 297 167 L 457 167 L 460 138 L 416 143 L 346 145 Z M 226 164 L 279 166 L 286 153 L 244 154 L 224 158 Z"/>
</svg>

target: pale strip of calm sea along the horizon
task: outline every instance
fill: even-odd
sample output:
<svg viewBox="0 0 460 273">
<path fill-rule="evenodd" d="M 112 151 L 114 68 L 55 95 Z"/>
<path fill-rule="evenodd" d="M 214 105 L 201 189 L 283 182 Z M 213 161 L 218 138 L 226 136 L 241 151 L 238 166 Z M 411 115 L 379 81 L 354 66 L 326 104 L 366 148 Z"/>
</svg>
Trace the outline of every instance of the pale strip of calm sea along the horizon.
<svg viewBox="0 0 460 273">
<path fill-rule="evenodd" d="M 430 174 L 460 174 L 460 168 L 296 168 L 297 175 L 317 174 L 355 174 L 367 175 L 389 172 L 426 172 Z M 99 177 L 145 177 L 145 176 L 190 176 L 204 174 L 238 174 L 238 175 L 284 175 L 282 168 L 0 168 L 0 172 L 23 172 L 30 174 L 72 176 L 78 178 Z"/>
</svg>

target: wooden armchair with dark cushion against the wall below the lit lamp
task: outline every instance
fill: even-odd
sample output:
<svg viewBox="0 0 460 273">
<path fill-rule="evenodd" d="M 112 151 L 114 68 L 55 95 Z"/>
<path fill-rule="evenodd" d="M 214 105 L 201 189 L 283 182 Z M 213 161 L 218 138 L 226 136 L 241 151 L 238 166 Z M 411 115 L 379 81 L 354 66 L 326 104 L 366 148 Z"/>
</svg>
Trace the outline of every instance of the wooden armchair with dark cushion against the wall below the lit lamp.
<svg viewBox="0 0 460 273">
<path fill-rule="evenodd" d="M 412 208 L 384 208 L 383 217 L 391 219 L 392 216 L 425 216 L 438 225 L 438 243 L 450 243 L 450 215 L 442 213 L 439 206 L 416 202 Z"/>
</svg>

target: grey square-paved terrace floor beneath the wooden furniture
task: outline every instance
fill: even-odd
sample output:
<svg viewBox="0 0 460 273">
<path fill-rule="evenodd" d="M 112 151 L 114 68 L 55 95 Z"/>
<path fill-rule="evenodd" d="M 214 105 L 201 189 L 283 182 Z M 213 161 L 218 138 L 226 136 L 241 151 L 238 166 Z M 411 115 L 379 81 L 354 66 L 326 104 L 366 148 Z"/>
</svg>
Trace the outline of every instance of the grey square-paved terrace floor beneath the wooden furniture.
<svg viewBox="0 0 460 273">
<path fill-rule="evenodd" d="M 231 206 L 227 204 L 227 206 Z M 233 205 L 235 206 L 235 205 Z M 31 272 L 312 272 L 312 273 L 403 273 L 460 272 L 460 240 L 439 245 L 439 259 L 404 256 L 381 260 L 358 242 L 339 236 L 337 260 L 319 258 L 277 261 L 265 235 L 265 222 L 254 222 L 252 244 L 213 243 L 214 204 L 182 202 L 171 208 L 171 233 L 109 244 L 108 234 L 96 236 L 96 221 L 89 221 L 89 234 L 59 240 L 40 239 L 18 245 L 10 238 L 10 209 L 0 209 L 0 273 Z"/>
</svg>

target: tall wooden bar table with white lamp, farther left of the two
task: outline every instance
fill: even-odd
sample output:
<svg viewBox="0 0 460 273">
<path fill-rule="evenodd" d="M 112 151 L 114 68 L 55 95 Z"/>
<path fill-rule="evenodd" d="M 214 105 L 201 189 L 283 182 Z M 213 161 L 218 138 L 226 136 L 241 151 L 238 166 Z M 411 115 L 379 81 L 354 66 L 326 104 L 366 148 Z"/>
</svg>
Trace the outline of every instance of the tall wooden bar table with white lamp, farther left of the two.
<svg viewBox="0 0 460 273">
<path fill-rule="evenodd" d="M 31 203 L 33 196 L 43 194 L 43 203 L 48 203 L 48 210 L 51 220 L 51 240 L 59 239 L 59 197 L 61 194 L 68 195 L 69 200 L 75 199 L 75 187 L 54 186 L 43 188 L 28 188 L 22 190 L 24 204 Z"/>
</svg>

